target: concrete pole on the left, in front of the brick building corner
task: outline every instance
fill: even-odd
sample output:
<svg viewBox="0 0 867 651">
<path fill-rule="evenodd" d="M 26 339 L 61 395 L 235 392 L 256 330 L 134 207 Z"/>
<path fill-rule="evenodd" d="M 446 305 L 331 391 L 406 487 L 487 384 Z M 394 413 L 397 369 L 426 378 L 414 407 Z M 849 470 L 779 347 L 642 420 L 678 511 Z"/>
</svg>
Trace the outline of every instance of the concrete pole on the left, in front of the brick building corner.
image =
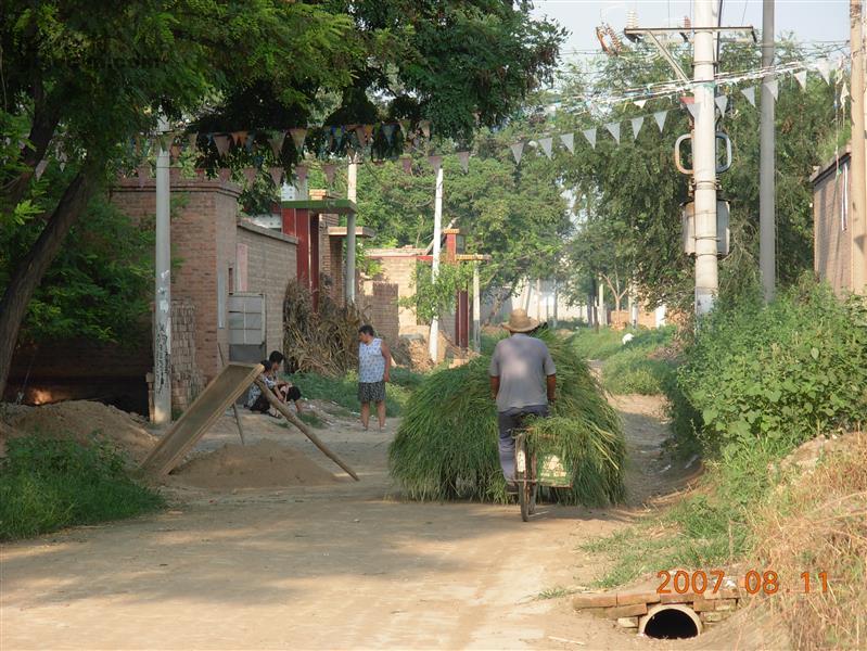
<svg viewBox="0 0 867 651">
<path fill-rule="evenodd" d="M 168 131 L 168 122 L 160 118 L 160 135 Z M 153 329 L 153 421 L 171 421 L 171 226 L 169 221 L 168 149 L 157 138 L 156 154 L 156 251 L 154 255 Z"/>
</svg>

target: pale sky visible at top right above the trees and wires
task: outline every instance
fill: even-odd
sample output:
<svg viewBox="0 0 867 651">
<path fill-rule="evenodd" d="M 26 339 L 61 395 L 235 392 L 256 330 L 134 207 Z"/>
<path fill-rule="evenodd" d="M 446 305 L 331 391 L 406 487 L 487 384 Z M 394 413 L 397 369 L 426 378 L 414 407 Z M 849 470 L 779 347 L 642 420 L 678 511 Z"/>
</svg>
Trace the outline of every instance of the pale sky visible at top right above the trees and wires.
<svg viewBox="0 0 867 651">
<path fill-rule="evenodd" d="M 633 10 L 641 27 L 679 25 L 692 13 L 691 0 L 536 0 L 534 15 L 547 15 L 571 33 L 563 59 L 600 51 L 596 27 L 609 23 L 617 33 Z M 762 27 L 762 0 L 723 0 L 723 25 Z M 775 33 L 794 33 L 801 41 L 849 39 L 849 0 L 776 0 Z"/>
</svg>

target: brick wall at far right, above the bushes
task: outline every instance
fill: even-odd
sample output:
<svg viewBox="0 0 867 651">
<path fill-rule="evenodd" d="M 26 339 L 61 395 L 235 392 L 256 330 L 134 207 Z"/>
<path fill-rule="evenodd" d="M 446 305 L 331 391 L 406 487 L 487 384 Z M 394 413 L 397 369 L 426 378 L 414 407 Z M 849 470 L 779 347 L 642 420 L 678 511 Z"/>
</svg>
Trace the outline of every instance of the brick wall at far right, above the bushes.
<svg viewBox="0 0 867 651">
<path fill-rule="evenodd" d="M 852 288 L 852 235 L 843 230 L 842 205 L 847 203 L 851 213 L 852 180 L 849 155 L 837 167 L 819 176 L 813 187 L 813 251 L 814 268 L 821 280 L 827 281 L 838 294 Z M 849 178 L 847 191 L 844 179 Z M 845 193 L 844 193 L 845 192 Z M 847 202 L 843 200 L 847 199 Z M 846 215 L 849 224 L 851 214 Z"/>
</svg>

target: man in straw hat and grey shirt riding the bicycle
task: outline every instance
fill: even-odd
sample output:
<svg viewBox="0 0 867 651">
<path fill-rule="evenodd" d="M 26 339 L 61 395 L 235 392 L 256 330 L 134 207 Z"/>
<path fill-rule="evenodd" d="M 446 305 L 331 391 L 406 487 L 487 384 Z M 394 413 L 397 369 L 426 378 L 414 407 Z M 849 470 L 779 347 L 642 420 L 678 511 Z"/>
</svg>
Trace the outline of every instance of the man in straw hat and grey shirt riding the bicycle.
<svg viewBox="0 0 867 651">
<path fill-rule="evenodd" d="M 502 324 L 510 336 L 497 342 L 488 369 L 490 393 L 497 403 L 500 467 L 509 493 L 518 492 L 513 431 L 524 425 L 526 417 L 547 417 L 557 388 L 557 368 L 548 346 L 528 336 L 538 324 L 525 310 L 512 311 L 509 322 Z"/>
</svg>

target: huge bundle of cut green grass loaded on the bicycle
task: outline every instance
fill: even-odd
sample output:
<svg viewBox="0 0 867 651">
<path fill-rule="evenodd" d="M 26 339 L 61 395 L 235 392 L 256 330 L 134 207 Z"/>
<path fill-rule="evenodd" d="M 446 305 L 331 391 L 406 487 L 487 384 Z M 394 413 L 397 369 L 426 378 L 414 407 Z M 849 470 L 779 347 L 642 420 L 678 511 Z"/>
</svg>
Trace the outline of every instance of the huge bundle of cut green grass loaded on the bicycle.
<svg viewBox="0 0 867 651">
<path fill-rule="evenodd" d="M 571 488 L 543 498 L 604 506 L 623 498 L 625 448 L 616 412 L 569 340 L 543 332 L 557 365 L 552 416 L 530 425 L 528 441 L 560 457 L 574 473 Z M 410 499 L 506 501 L 490 399 L 489 355 L 429 375 L 412 394 L 388 450 L 392 476 Z"/>
</svg>

